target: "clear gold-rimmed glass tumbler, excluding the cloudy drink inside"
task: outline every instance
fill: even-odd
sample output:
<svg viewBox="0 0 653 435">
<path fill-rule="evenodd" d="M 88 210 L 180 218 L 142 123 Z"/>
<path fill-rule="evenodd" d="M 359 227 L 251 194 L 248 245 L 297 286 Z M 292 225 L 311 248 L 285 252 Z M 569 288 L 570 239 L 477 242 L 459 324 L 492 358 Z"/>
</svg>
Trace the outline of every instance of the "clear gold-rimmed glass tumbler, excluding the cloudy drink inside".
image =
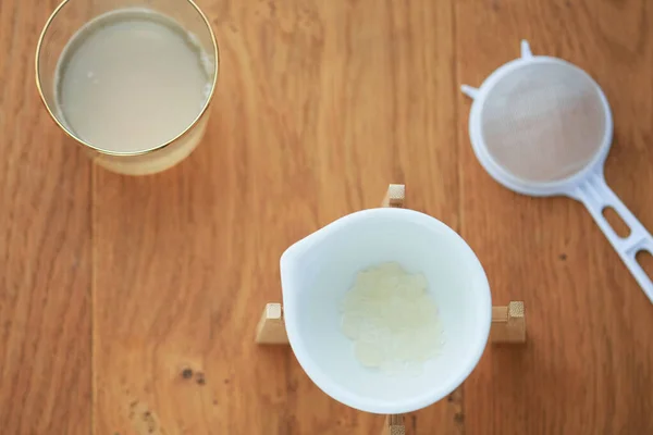
<svg viewBox="0 0 653 435">
<path fill-rule="evenodd" d="M 57 99 L 57 70 L 69 41 L 87 23 L 109 12 L 147 9 L 170 17 L 193 35 L 207 54 L 210 67 L 208 98 L 197 117 L 176 137 L 137 151 L 115 151 L 90 144 L 67 125 Z M 122 174 L 144 175 L 164 171 L 185 159 L 204 136 L 219 71 L 215 36 L 209 20 L 192 0 L 65 0 L 52 13 L 36 49 L 36 85 L 46 109 L 61 129 L 85 148 L 101 166 Z M 209 73 L 209 71 L 207 71 Z M 171 101 L 174 104 L 174 101 Z M 111 122 L 108 120 L 107 122 Z"/>
</svg>

